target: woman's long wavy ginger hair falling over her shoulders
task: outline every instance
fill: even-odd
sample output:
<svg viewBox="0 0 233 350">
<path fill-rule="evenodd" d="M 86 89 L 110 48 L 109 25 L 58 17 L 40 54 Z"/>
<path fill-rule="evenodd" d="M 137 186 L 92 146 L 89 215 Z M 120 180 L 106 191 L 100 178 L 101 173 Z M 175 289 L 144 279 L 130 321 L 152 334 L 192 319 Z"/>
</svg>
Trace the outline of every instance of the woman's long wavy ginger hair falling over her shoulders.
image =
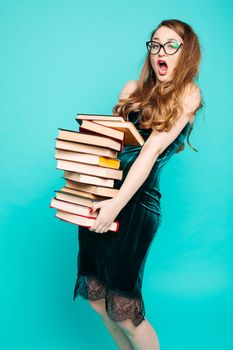
<svg viewBox="0 0 233 350">
<path fill-rule="evenodd" d="M 201 50 L 198 37 L 192 27 L 176 19 L 160 22 L 152 31 L 150 40 L 161 26 L 173 29 L 184 43 L 172 80 L 156 84 L 156 74 L 151 66 L 150 54 L 148 53 L 140 73 L 138 87 L 127 99 L 120 99 L 112 111 L 127 121 L 131 111 L 140 111 L 141 128 L 169 131 L 175 120 L 179 118 L 179 114 L 183 112 L 182 97 L 186 87 L 198 79 Z M 202 107 L 203 103 L 201 102 L 195 113 Z M 193 125 L 189 130 L 187 141 L 189 146 L 198 152 L 189 142 L 192 128 Z M 184 143 L 177 152 L 182 151 L 183 148 Z"/>
</svg>

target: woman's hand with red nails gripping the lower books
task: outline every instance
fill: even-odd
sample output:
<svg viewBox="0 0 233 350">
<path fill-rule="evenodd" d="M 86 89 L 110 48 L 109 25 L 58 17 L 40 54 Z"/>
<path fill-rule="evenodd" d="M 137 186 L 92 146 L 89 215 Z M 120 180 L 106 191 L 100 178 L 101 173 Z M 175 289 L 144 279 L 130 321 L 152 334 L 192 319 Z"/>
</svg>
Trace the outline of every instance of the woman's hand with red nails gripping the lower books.
<svg viewBox="0 0 233 350">
<path fill-rule="evenodd" d="M 120 208 L 116 205 L 114 198 L 111 198 L 100 202 L 94 202 L 91 213 L 94 213 L 97 209 L 100 209 L 99 214 L 89 230 L 103 233 L 109 230 L 111 224 L 120 212 Z"/>
</svg>

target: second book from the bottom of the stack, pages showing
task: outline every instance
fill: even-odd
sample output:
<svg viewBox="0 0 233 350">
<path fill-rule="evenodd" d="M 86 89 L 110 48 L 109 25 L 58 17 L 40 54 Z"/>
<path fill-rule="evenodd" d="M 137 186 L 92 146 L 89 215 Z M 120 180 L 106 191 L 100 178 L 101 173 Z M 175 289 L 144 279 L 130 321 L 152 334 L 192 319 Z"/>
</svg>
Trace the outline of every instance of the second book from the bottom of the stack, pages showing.
<svg viewBox="0 0 233 350">
<path fill-rule="evenodd" d="M 93 218 L 96 218 L 98 216 L 98 212 L 94 212 L 90 214 L 89 208 L 87 206 L 77 204 L 77 203 L 66 202 L 58 198 L 52 198 L 50 203 L 50 208 L 67 211 L 68 213 L 81 215 L 81 216 L 87 216 L 87 217 L 93 217 Z"/>
</svg>

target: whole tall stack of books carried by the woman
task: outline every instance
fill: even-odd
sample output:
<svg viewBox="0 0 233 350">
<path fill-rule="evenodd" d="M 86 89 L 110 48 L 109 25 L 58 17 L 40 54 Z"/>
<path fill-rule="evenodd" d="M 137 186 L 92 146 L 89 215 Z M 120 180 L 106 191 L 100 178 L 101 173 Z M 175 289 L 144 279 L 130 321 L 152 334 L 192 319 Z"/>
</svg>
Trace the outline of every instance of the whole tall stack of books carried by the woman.
<svg viewBox="0 0 233 350">
<path fill-rule="evenodd" d="M 50 207 L 61 220 L 91 227 L 98 216 L 89 212 L 92 203 L 118 192 L 115 180 L 123 177 L 118 153 L 124 145 L 142 146 L 144 139 L 132 122 L 116 115 L 77 114 L 76 121 L 79 131 L 58 129 L 55 158 L 65 186 L 55 190 Z M 117 232 L 119 224 L 114 221 L 109 230 Z"/>
</svg>

